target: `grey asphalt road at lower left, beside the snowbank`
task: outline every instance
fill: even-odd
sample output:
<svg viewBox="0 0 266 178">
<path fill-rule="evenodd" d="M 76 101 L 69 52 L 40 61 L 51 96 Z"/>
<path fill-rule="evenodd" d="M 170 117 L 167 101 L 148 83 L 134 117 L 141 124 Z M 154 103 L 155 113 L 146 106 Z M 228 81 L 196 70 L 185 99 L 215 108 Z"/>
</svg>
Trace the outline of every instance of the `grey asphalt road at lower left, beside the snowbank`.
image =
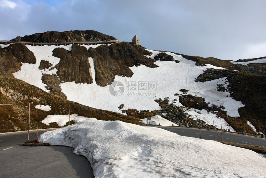
<svg viewBox="0 0 266 178">
<path fill-rule="evenodd" d="M 45 131 L 38 131 L 39 135 Z M 29 140 L 36 140 L 36 131 Z M 0 135 L 0 177 L 94 178 L 87 158 L 65 146 L 22 146 L 28 132 Z"/>
</svg>

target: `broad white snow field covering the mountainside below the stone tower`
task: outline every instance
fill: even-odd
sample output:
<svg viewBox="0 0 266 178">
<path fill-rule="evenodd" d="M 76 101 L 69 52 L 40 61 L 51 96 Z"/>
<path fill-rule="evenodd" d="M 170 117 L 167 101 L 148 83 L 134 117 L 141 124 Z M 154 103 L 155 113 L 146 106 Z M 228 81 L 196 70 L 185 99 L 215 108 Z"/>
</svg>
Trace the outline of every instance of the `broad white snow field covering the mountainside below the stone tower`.
<svg viewBox="0 0 266 178">
<path fill-rule="evenodd" d="M 26 45 L 29 50 L 31 50 L 36 56 L 36 64 L 23 64 L 21 66 L 21 70 L 14 73 L 15 78 L 19 78 L 28 82 L 32 85 L 35 85 L 44 91 L 49 92 L 45 89 L 45 84 L 41 81 L 42 73 L 47 74 L 55 74 L 56 70 L 54 66 L 58 64 L 60 61 L 59 58 L 52 56 L 52 51 L 56 47 L 63 47 L 66 50 L 71 50 L 72 45 L 68 46 L 30 46 Z M 82 45 L 87 49 L 89 47 L 96 48 L 98 45 Z M 152 56 L 154 57 L 159 51 L 152 51 Z M 160 66 L 157 68 L 148 68 L 145 65 L 140 65 L 138 67 L 133 66 L 130 69 L 133 71 L 133 76 L 131 78 L 127 77 L 119 77 L 116 76 L 114 81 L 119 81 L 124 86 L 124 92 L 121 96 L 113 96 L 109 92 L 110 85 L 106 87 L 100 87 L 95 82 L 95 70 L 93 59 L 89 58 L 89 63 L 91 65 L 92 71 L 92 84 L 83 84 L 83 83 L 75 83 L 75 82 L 63 82 L 60 87 L 62 88 L 62 92 L 65 93 L 68 100 L 78 102 L 83 105 L 87 105 L 90 107 L 110 110 L 118 113 L 122 113 L 121 109 L 118 107 L 121 104 L 124 104 L 123 109 L 137 109 L 137 110 L 160 110 L 161 107 L 154 100 L 156 99 L 164 99 L 165 97 L 169 97 L 170 103 L 177 99 L 176 105 L 182 106 L 179 103 L 178 96 L 174 96 L 175 93 L 182 94 L 180 89 L 189 90 L 187 94 L 191 94 L 193 96 L 200 96 L 205 99 L 205 102 L 209 102 L 210 106 L 214 105 L 222 105 L 225 107 L 227 114 L 231 117 L 239 117 L 238 108 L 244 107 L 241 102 L 235 101 L 230 98 L 229 92 L 220 92 L 217 91 L 217 84 L 224 84 L 227 86 L 225 78 L 220 78 L 217 80 L 212 80 L 209 82 L 195 82 L 195 78 L 198 77 L 199 74 L 203 73 L 205 69 L 215 68 L 215 69 L 223 69 L 220 67 L 215 67 L 212 65 L 207 65 L 205 67 L 199 67 L 195 65 L 194 61 L 190 61 L 182 58 L 180 55 L 176 55 L 170 52 L 166 52 L 167 54 L 174 57 L 175 60 L 179 60 L 180 63 L 171 62 L 171 61 L 156 61 L 155 64 Z M 52 66 L 46 70 L 39 70 L 38 67 L 40 65 L 41 60 L 49 61 Z M 139 84 L 144 84 L 140 86 Z M 153 85 L 150 85 L 153 84 Z M 134 88 L 135 85 L 135 88 Z M 119 87 L 116 87 L 115 90 L 119 90 Z M 111 103 L 111 105 L 110 105 Z M 201 111 L 200 111 L 201 112 Z M 208 124 L 213 124 L 213 121 L 220 122 L 220 119 L 216 117 L 215 114 L 210 114 L 205 111 L 202 115 L 195 115 L 195 119 L 200 117 L 203 120 L 208 122 Z M 206 115 L 207 114 L 207 115 Z M 223 119 L 222 119 L 223 120 Z M 227 127 L 227 123 L 222 121 L 223 128 Z M 220 128 L 221 124 L 216 124 L 217 128 Z"/>
</svg>

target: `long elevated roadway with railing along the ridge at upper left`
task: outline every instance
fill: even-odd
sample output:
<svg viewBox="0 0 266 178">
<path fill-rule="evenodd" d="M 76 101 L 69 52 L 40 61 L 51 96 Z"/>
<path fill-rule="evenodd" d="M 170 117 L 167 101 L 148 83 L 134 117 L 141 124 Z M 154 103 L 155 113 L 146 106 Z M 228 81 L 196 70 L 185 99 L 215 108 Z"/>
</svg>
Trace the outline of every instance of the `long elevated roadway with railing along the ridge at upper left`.
<svg viewBox="0 0 266 178">
<path fill-rule="evenodd" d="M 22 44 L 28 44 L 32 46 L 43 46 L 43 45 L 55 45 L 55 46 L 60 46 L 60 45 L 70 45 L 70 44 L 79 44 L 79 45 L 97 45 L 97 44 L 112 44 L 112 43 L 118 43 L 120 41 L 106 41 L 106 42 L 15 42 L 15 41 L 6 41 L 6 40 L 0 40 L 0 44 L 11 44 L 11 43 L 22 43 Z"/>
</svg>

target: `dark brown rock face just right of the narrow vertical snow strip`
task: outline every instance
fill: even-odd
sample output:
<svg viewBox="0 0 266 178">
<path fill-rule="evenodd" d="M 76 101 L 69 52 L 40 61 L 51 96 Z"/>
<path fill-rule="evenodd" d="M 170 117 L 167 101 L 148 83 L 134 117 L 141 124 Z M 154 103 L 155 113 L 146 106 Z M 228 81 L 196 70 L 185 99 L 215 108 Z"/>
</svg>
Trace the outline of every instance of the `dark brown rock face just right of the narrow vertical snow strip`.
<svg viewBox="0 0 266 178">
<path fill-rule="evenodd" d="M 151 55 L 151 53 L 139 45 L 114 43 L 110 46 L 101 45 L 95 49 L 89 48 L 88 51 L 94 61 L 96 83 L 102 87 L 111 84 L 116 75 L 131 77 L 133 72 L 128 67 L 134 65 L 158 67 L 154 64 L 154 60 L 144 56 Z"/>
</svg>

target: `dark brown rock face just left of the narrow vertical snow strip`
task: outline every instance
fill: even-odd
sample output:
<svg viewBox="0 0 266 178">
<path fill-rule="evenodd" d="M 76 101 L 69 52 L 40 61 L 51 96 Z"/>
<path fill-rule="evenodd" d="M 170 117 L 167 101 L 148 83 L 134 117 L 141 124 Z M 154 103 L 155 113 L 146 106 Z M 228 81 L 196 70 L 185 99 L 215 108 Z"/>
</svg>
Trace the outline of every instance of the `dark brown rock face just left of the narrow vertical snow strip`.
<svg viewBox="0 0 266 178">
<path fill-rule="evenodd" d="M 72 50 L 55 48 L 53 56 L 60 58 L 55 66 L 57 75 L 64 82 L 92 83 L 91 65 L 89 64 L 89 53 L 85 47 L 72 45 Z"/>
</svg>

